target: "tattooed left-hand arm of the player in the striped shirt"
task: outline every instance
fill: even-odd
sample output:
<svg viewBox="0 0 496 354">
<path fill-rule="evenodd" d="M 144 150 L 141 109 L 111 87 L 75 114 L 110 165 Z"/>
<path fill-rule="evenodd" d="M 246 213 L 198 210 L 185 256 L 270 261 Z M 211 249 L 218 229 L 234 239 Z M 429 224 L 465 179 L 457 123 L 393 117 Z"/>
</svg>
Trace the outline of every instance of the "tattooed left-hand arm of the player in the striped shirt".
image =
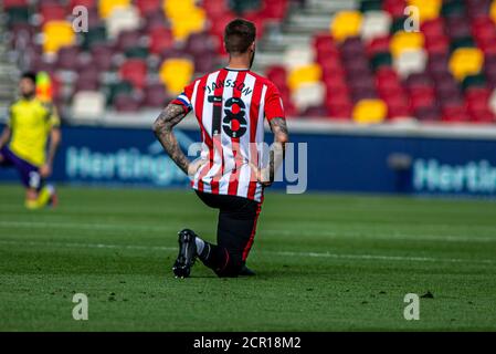
<svg viewBox="0 0 496 354">
<path fill-rule="evenodd" d="M 181 147 L 172 133 L 175 125 L 181 122 L 184 116 L 184 111 L 180 105 L 169 104 L 155 121 L 154 132 L 170 158 L 184 174 L 188 175 L 190 162 L 184 153 L 182 153 Z"/>
</svg>

